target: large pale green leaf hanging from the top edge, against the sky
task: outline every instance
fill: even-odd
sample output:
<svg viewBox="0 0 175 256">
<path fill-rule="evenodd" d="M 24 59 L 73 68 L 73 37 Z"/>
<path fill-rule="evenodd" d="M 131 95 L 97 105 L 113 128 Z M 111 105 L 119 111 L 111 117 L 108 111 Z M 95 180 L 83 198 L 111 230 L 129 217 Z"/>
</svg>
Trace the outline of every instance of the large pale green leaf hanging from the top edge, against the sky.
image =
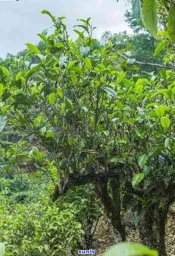
<svg viewBox="0 0 175 256">
<path fill-rule="evenodd" d="M 157 38 L 157 3 L 156 0 L 143 0 L 142 22 L 149 33 Z"/>
</svg>

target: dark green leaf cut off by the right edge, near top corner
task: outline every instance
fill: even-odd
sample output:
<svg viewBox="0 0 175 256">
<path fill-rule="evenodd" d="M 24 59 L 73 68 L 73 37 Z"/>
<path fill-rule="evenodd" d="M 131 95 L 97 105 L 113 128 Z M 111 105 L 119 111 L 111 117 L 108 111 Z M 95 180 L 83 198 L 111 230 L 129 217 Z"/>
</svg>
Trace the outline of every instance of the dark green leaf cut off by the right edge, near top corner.
<svg viewBox="0 0 175 256">
<path fill-rule="evenodd" d="M 169 14 L 168 14 L 168 34 L 173 43 L 175 43 L 175 4 L 170 5 Z"/>
</svg>

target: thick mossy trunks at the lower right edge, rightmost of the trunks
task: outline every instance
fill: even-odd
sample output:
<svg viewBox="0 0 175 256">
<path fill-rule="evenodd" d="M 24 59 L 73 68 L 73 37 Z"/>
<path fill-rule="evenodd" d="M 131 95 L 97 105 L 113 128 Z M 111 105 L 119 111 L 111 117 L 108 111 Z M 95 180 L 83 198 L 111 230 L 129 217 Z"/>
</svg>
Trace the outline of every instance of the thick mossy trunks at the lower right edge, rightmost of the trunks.
<svg viewBox="0 0 175 256">
<path fill-rule="evenodd" d="M 165 247 L 165 224 L 168 215 L 169 206 L 175 200 L 175 184 L 172 182 L 165 187 L 164 182 L 160 187 L 156 187 L 157 202 L 152 203 L 148 210 L 145 212 L 144 221 L 139 225 L 139 234 L 141 242 L 156 248 L 159 256 L 166 256 Z M 164 199 L 162 200 L 161 191 L 163 191 Z M 160 193 L 160 194 L 159 194 Z"/>
</svg>

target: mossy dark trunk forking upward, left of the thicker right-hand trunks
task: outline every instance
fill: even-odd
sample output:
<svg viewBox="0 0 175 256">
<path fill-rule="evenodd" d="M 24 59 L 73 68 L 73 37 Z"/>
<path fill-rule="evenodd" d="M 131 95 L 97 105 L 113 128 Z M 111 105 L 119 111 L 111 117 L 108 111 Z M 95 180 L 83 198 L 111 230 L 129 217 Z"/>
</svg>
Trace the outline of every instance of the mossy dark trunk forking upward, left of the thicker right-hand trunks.
<svg viewBox="0 0 175 256">
<path fill-rule="evenodd" d="M 106 210 L 108 219 L 113 228 L 114 242 L 125 241 L 125 231 L 121 223 L 120 215 L 120 190 L 118 178 L 111 180 L 112 197 L 108 192 L 108 180 L 101 179 L 96 183 L 96 191 Z"/>
</svg>

